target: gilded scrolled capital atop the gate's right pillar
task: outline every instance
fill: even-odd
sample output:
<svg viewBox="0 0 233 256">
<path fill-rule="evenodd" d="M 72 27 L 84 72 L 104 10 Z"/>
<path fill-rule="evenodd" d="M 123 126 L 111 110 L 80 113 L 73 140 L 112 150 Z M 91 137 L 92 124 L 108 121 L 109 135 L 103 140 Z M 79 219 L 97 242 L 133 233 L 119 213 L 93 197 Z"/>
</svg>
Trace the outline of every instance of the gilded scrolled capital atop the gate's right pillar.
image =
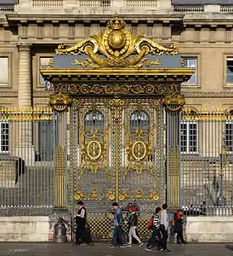
<svg viewBox="0 0 233 256">
<path fill-rule="evenodd" d="M 185 106 L 185 96 L 178 94 L 174 94 L 172 96 L 165 96 L 162 99 L 162 104 L 168 111 L 181 111 Z"/>
</svg>

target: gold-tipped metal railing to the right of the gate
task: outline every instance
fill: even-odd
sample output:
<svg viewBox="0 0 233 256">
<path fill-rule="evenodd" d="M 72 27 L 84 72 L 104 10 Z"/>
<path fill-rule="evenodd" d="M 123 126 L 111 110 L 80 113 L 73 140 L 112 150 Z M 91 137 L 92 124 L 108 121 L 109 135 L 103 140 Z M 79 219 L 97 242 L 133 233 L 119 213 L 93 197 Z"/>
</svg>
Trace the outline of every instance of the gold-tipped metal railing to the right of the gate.
<svg viewBox="0 0 233 256">
<path fill-rule="evenodd" d="M 184 112 L 179 144 L 180 206 L 187 215 L 231 215 L 233 115 Z"/>
</svg>

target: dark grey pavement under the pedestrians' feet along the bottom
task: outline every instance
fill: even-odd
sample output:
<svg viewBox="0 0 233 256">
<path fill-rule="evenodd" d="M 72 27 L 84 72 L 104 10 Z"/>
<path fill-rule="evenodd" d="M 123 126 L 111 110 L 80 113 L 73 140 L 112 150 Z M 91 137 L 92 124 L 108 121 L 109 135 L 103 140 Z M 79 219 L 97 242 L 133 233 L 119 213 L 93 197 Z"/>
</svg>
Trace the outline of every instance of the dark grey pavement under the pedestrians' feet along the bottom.
<svg viewBox="0 0 233 256">
<path fill-rule="evenodd" d="M 224 244 L 188 244 L 168 245 L 172 253 L 145 251 L 145 247 L 127 247 L 111 249 L 108 243 L 95 243 L 93 247 L 72 246 L 71 243 L 0 243 L 1 256 L 133 256 L 133 255 L 173 255 L 173 256 L 230 256 L 233 245 Z"/>
</svg>

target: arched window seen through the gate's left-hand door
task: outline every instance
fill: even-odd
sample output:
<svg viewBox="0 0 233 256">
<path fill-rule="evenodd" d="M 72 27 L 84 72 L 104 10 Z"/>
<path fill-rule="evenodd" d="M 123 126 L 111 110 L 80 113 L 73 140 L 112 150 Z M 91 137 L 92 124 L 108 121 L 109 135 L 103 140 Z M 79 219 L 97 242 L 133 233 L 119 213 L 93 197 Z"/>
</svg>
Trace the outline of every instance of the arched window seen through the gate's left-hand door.
<svg viewBox="0 0 233 256">
<path fill-rule="evenodd" d="M 104 116 L 99 111 L 89 111 L 85 116 L 85 131 L 104 131 Z"/>
</svg>

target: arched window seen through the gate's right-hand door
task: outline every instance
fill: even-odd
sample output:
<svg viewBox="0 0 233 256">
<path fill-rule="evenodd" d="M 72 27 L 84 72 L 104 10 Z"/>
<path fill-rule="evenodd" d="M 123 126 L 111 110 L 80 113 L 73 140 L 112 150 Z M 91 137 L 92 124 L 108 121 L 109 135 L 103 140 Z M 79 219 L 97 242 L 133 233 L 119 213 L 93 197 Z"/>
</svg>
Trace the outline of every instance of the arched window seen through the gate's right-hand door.
<svg viewBox="0 0 233 256">
<path fill-rule="evenodd" d="M 137 128 L 144 131 L 150 131 L 150 118 L 148 113 L 145 113 L 144 111 L 134 111 L 134 113 L 132 113 L 129 130 L 135 131 Z"/>
</svg>

